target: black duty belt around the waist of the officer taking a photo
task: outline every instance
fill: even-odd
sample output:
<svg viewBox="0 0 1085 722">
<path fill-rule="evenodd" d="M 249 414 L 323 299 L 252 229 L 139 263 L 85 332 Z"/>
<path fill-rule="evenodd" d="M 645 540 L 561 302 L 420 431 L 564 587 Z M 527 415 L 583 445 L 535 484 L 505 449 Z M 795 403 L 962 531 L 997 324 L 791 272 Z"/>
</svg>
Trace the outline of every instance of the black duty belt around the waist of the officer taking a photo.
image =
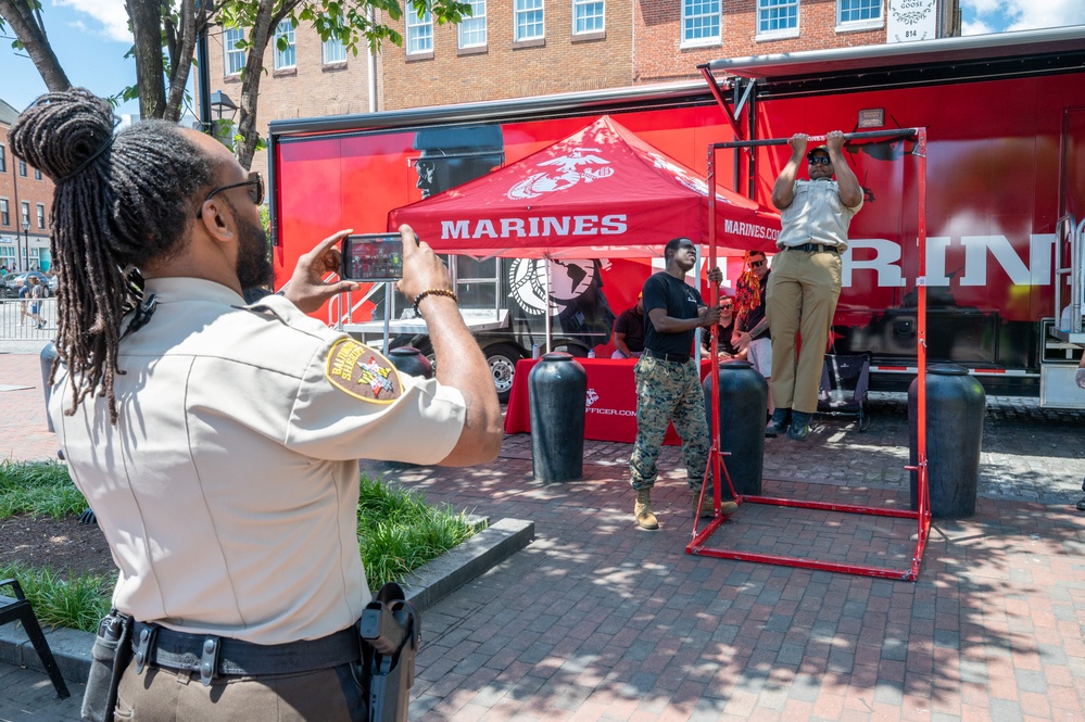
<svg viewBox="0 0 1085 722">
<path fill-rule="evenodd" d="M 157 624 L 136 622 L 131 635 L 136 672 L 144 664 L 199 672 L 204 685 L 215 676 L 300 674 L 338 667 L 362 658 L 357 630 L 319 639 L 286 644 L 253 644 L 213 634 L 187 634 Z"/>
</svg>

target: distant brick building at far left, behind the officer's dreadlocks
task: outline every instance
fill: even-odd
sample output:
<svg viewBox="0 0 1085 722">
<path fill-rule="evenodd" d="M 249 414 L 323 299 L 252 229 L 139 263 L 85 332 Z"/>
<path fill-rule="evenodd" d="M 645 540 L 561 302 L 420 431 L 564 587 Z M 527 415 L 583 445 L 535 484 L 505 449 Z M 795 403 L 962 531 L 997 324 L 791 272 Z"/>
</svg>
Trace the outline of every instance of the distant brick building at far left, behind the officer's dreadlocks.
<svg viewBox="0 0 1085 722">
<path fill-rule="evenodd" d="M 0 266 L 47 269 L 53 183 L 11 154 L 8 130 L 18 111 L 0 99 Z"/>
</svg>

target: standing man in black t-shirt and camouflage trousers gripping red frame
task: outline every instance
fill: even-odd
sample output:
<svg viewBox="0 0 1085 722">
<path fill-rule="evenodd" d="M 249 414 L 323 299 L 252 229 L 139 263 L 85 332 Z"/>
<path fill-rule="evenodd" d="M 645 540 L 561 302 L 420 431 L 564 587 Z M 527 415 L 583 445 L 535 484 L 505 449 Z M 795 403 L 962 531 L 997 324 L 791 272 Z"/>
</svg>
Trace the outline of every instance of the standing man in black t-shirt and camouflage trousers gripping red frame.
<svg viewBox="0 0 1085 722">
<path fill-rule="evenodd" d="M 630 483 L 636 492 L 633 515 L 641 529 L 654 530 L 659 522 L 652 512 L 652 486 L 656 483 L 656 459 L 663 447 L 667 425 L 682 439 L 682 455 L 694 514 L 711 515 L 698 505 L 701 484 L 708 466 L 708 422 L 701 390 L 701 375 L 690 352 L 701 326 L 710 327 L 720 318 L 719 306 L 708 308 L 697 289 L 685 282 L 685 274 L 697 262 L 697 250 L 687 238 L 676 238 L 664 249 L 666 269 L 644 283 L 644 355 L 633 367 L 636 378 L 636 442 L 629 459 Z M 719 283 L 723 274 L 714 268 L 708 280 Z M 724 504 L 733 511 L 733 504 Z"/>
</svg>

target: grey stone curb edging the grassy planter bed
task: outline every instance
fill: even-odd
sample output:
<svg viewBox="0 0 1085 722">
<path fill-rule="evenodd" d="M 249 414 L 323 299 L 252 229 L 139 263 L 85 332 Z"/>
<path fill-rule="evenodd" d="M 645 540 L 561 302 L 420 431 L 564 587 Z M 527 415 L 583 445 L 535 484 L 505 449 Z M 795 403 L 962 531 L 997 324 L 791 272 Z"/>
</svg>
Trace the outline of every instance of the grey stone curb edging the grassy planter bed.
<svg viewBox="0 0 1085 722">
<path fill-rule="evenodd" d="M 534 535 L 534 522 L 502 519 L 451 552 L 419 567 L 411 575 L 411 580 L 401 582 L 401 585 L 407 599 L 418 611 L 424 611 L 522 549 Z M 0 604 L 4 601 L 14 599 L 0 596 Z M 90 648 L 94 643 L 94 635 L 65 628 L 47 628 L 45 632 L 64 679 L 85 683 L 90 673 Z M 16 629 L 15 624 L 0 626 L 0 663 L 45 672 L 45 666 L 26 632 L 22 628 Z"/>
</svg>

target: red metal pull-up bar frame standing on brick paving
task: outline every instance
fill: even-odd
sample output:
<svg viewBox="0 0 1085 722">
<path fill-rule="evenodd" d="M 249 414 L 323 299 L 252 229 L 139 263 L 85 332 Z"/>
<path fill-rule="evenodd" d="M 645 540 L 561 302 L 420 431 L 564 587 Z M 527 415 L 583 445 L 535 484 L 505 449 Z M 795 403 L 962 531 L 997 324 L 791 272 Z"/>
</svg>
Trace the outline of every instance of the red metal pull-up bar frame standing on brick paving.
<svg viewBox="0 0 1085 722">
<path fill-rule="evenodd" d="M 704 531 L 697 532 L 699 519 L 694 518 L 693 541 L 685 547 L 686 554 L 717 557 L 720 559 L 739 559 L 741 561 L 754 561 L 761 563 L 782 565 L 785 567 L 802 567 L 804 569 L 819 569 L 822 571 L 843 572 L 845 574 L 858 574 L 863 577 L 880 577 L 883 579 L 898 579 L 914 582 L 919 579 L 919 567 L 923 560 L 923 549 L 926 547 L 926 537 L 931 529 L 931 509 L 929 480 L 926 468 L 926 128 L 905 128 L 900 130 L 874 130 L 869 132 L 845 134 L 845 140 L 892 140 L 894 138 L 908 138 L 916 142 L 913 155 L 919 159 L 919 276 L 916 281 L 919 293 L 918 307 L 918 335 L 917 335 L 917 366 L 919 367 L 919 389 L 917 409 L 917 446 L 918 464 L 914 467 L 905 467 L 914 471 L 919 478 L 918 483 L 918 509 L 887 509 L 881 507 L 855 506 L 849 504 L 830 504 L 824 502 L 803 502 L 785 499 L 771 496 L 758 496 L 752 494 L 737 494 L 734 484 L 731 482 L 731 474 L 723 464 L 724 452 L 720 449 L 720 397 L 719 397 L 719 356 L 717 330 L 711 333 L 711 378 L 714 379 L 712 393 L 712 446 L 708 456 L 708 466 L 705 469 L 704 483 L 702 484 L 702 497 L 709 480 L 712 482 L 712 497 L 715 502 L 714 518 L 708 522 Z M 820 142 L 824 136 L 811 136 L 810 141 Z M 766 140 L 735 140 L 723 143 L 711 143 L 708 148 L 708 238 L 709 255 L 708 264 L 710 268 L 716 267 L 716 152 L 734 148 L 755 148 L 765 145 L 784 145 L 788 143 L 787 138 L 771 138 Z M 712 284 L 709 290 L 711 303 L 719 303 L 719 287 Z M 767 504 L 773 506 L 797 507 L 804 509 L 819 509 L 823 511 L 841 511 L 846 514 L 861 514 L 880 517 L 897 517 L 916 519 L 917 540 L 916 550 L 912 554 L 911 566 L 908 569 L 893 569 L 886 567 L 872 567 L 863 565 L 847 565 L 833 561 L 818 561 L 802 557 L 786 557 L 772 554 L 756 554 L 748 552 L 730 552 L 727 549 L 716 549 L 705 547 L 705 543 L 726 521 L 727 516 L 721 514 L 720 479 L 727 481 L 732 498 L 740 508 L 745 503 Z"/>
</svg>

